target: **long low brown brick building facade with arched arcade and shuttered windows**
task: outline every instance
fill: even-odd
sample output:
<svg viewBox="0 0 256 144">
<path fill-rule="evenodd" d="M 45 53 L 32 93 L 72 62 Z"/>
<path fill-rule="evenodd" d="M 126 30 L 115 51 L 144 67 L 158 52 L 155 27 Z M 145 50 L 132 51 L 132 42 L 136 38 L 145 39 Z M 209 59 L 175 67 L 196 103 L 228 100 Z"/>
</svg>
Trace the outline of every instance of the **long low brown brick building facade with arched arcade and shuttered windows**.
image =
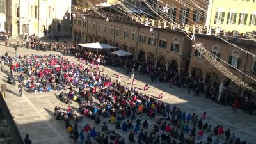
<svg viewBox="0 0 256 144">
<path fill-rule="evenodd" d="M 151 61 L 155 65 L 166 67 L 166 70 L 177 68 L 179 73 L 186 72 L 189 76 L 197 76 L 203 81 L 211 79 L 216 83 L 223 83 L 230 90 L 241 91 L 237 89 L 236 84 L 229 81 L 209 61 L 205 60 L 200 52 L 192 47 L 193 44 L 189 38 L 180 31 L 154 28 L 154 31 L 150 32 L 150 27 L 132 22 L 129 17 L 113 17 L 108 22 L 97 15 L 88 15 L 85 19 L 77 16 L 74 19 L 74 42 L 102 42 L 113 45 L 131 52 L 135 60 Z M 250 54 L 239 51 L 216 36 L 196 35 L 195 40 L 202 43 L 207 51 L 212 52 L 216 59 L 221 58 L 256 79 L 256 58 Z M 252 40 L 234 38 L 232 42 L 256 54 L 256 43 Z M 256 81 L 223 64 L 244 82 L 256 88 Z"/>
</svg>

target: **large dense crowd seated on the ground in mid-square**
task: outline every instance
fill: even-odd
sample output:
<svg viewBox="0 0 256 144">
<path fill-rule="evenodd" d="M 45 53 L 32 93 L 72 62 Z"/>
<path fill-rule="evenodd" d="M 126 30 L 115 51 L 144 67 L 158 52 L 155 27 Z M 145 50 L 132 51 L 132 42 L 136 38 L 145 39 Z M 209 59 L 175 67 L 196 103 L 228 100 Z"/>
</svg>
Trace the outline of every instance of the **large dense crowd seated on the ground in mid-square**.
<svg viewBox="0 0 256 144">
<path fill-rule="evenodd" d="M 80 138 L 85 143 L 92 143 L 91 138 L 95 138 L 104 144 L 113 141 L 115 144 L 124 144 L 127 139 L 131 143 L 137 141 L 154 144 L 193 144 L 201 143 L 206 136 L 206 143 L 218 144 L 221 141 L 219 137 L 225 135 L 226 143 L 246 143 L 232 134 L 230 129 L 224 131 L 221 125 L 211 127 L 205 120 L 207 113 L 198 116 L 195 113 L 186 113 L 175 105 L 171 108 L 170 104 L 138 92 L 133 86 L 129 88 L 118 80 L 111 79 L 102 70 L 97 70 L 99 63 L 108 63 L 108 59 L 104 59 L 106 57 L 84 52 L 86 61 L 81 61 L 88 65 L 90 63 L 91 67 L 84 67 L 81 63 L 74 63 L 54 54 L 27 55 L 20 57 L 19 61 L 14 61 L 10 57 L 10 60 L 7 60 L 3 56 L 3 60 L 10 61 L 11 76 L 19 74 L 19 90 L 22 90 L 23 86 L 28 92 L 68 90 L 67 97 L 80 104 L 79 113 L 95 120 L 95 123 L 102 122 L 101 131 L 99 127 L 92 129 L 90 124 L 86 124 L 84 129 L 78 132 L 77 125 L 81 118 L 77 118 L 72 107 L 68 106 L 67 113 L 62 113 L 60 108 L 56 107 L 56 118 L 65 120 L 70 138 L 74 138 L 75 142 Z M 76 88 L 79 90 L 78 93 Z M 96 97 L 99 104 L 95 104 L 92 97 Z M 70 119 L 74 120 L 74 125 L 70 124 Z M 129 132 L 128 138 L 122 138 L 115 131 L 108 129 L 108 121 L 116 125 L 115 131 Z M 103 132 L 106 134 L 100 134 Z M 109 137 L 110 140 L 108 134 L 112 136 Z M 136 134 L 138 138 L 135 138 Z"/>
</svg>

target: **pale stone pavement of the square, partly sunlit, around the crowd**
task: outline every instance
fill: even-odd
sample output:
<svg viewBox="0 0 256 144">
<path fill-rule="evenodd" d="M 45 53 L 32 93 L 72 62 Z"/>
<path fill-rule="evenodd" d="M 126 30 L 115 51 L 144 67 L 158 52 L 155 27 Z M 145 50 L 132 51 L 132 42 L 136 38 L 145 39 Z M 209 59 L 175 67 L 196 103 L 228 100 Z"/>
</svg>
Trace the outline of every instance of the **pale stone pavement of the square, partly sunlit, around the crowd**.
<svg viewBox="0 0 256 144">
<path fill-rule="evenodd" d="M 4 47 L 3 44 L 0 45 L 0 55 L 8 52 L 14 56 L 14 49 L 10 47 Z M 57 52 L 47 51 L 34 51 L 31 49 L 19 48 L 18 54 L 56 54 Z M 76 58 L 72 56 L 65 56 L 70 60 L 77 61 Z M 78 61 L 77 61 L 78 62 Z M 102 66 L 100 66 L 100 69 Z M 6 83 L 10 69 L 5 66 L 4 70 L 0 72 L 0 83 Z M 125 75 L 122 68 L 115 67 L 106 67 L 105 73 L 113 76 L 115 79 L 115 74 L 121 72 L 122 77 L 120 81 L 131 86 L 130 76 Z M 209 99 L 204 97 L 195 97 L 193 94 L 187 94 L 185 88 L 177 88 L 173 86 L 172 88 L 168 87 L 167 83 L 151 83 L 150 79 L 147 76 L 139 76 L 135 74 L 136 85 L 135 87 L 139 90 L 143 89 L 145 83 L 149 84 L 149 89 L 146 92 L 153 97 L 158 97 L 159 93 L 163 92 L 163 99 L 161 101 L 168 102 L 170 104 L 175 104 L 177 107 L 180 107 L 182 111 L 186 111 L 186 114 L 195 112 L 197 115 L 202 115 L 204 111 L 207 111 L 207 119 L 204 121 L 215 127 L 220 124 L 223 125 L 224 130 L 230 128 L 231 132 L 235 132 L 237 137 L 240 137 L 241 140 L 247 140 L 251 144 L 256 141 L 256 120 L 255 116 L 248 115 L 243 111 L 238 111 L 238 113 L 233 113 L 230 107 L 221 106 L 220 104 L 213 103 Z M 68 138 L 68 132 L 65 129 L 65 123 L 57 121 L 54 118 L 54 107 L 60 106 L 63 109 L 67 108 L 67 104 L 60 102 L 56 97 L 60 92 L 47 92 L 47 93 L 28 93 L 24 92 L 22 97 L 18 96 L 18 88 L 16 86 L 11 86 L 7 84 L 8 90 L 6 93 L 6 103 L 10 109 L 12 115 L 15 117 L 15 122 L 19 128 L 20 134 L 24 138 L 26 134 L 30 135 L 33 143 L 54 143 L 54 144 L 67 144 L 72 143 L 72 140 Z M 65 93 L 68 93 L 66 91 Z M 171 105 L 171 107 L 172 107 Z M 78 108 L 78 105 L 73 102 L 72 106 Z M 143 122 L 145 116 L 141 116 Z M 109 129 L 115 129 L 115 125 L 109 123 L 109 119 L 102 120 L 107 122 Z M 90 123 L 92 127 L 97 127 L 97 130 L 100 131 L 101 124 L 95 125 L 95 122 L 89 120 L 88 118 L 83 118 L 79 122 L 79 129 L 82 129 L 85 124 Z M 152 120 L 149 120 L 150 126 L 154 124 Z M 146 131 L 150 131 L 147 129 Z M 125 143 L 127 141 L 127 136 L 129 131 L 124 134 L 120 130 L 116 130 L 118 134 L 125 138 Z M 196 132 L 197 133 L 197 132 Z M 137 140 L 138 134 L 135 135 Z M 204 139 L 208 134 L 204 134 Z M 215 140 L 216 137 L 214 137 Z M 224 137 L 220 138 L 221 141 L 224 140 Z"/>
</svg>

